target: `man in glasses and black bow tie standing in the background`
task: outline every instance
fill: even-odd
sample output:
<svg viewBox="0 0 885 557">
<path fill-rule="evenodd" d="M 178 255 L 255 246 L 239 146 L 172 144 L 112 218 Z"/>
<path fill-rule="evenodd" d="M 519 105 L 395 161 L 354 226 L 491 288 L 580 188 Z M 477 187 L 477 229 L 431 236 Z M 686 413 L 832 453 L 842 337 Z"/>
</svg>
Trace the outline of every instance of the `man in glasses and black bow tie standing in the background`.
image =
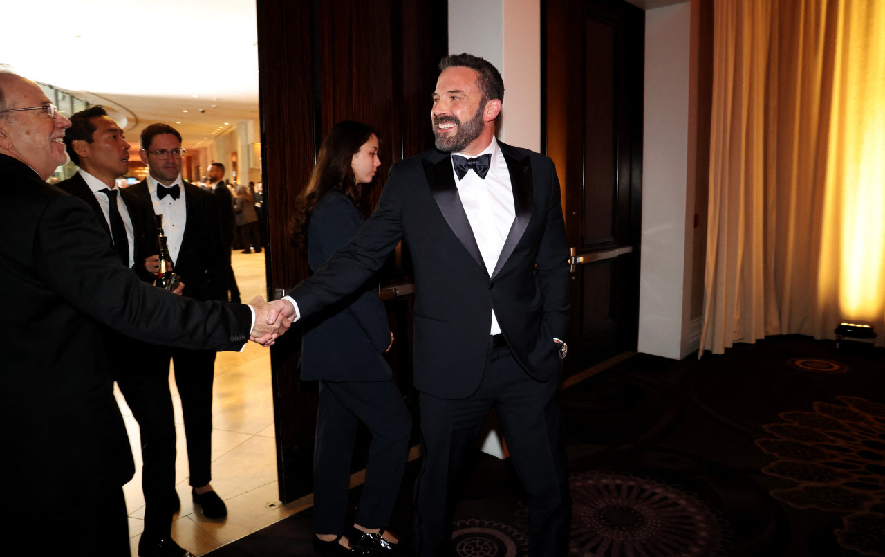
<svg viewBox="0 0 885 557">
<path fill-rule="evenodd" d="M 181 134 L 165 124 L 142 131 L 140 155 L 148 166 L 145 180 L 129 190 L 163 215 L 163 229 L 175 274 L 184 296 L 227 300 L 227 258 L 221 245 L 218 201 L 206 190 L 181 179 Z M 212 489 L 212 380 L 215 352 L 158 348 L 151 365 L 175 368 L 187 437 L 191 496 L 209 518 L 224 518 L 227 507 Z"/>
</svg>

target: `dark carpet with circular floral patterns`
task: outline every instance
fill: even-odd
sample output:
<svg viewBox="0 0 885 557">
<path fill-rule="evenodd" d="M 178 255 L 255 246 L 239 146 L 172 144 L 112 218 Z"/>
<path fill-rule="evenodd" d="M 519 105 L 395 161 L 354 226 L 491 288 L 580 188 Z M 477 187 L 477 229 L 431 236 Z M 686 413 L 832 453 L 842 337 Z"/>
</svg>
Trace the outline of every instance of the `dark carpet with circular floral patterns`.
<svg viewBox="0 0 885 557">
<path fill-rule="evenodd" d="M 770 337 L 703 360 L 639 354 L 562 392 L 587 557 L 885 557 L 885 350 Z M 478 454 L 461 557 L 527 555 L 506 461 Z M 411 535 L 407 471 L 391 527 Z M 355 490 L 354 495 L 357 495 Z M 210 553 L 309 555 L 310 510 Z"/>
</svg>

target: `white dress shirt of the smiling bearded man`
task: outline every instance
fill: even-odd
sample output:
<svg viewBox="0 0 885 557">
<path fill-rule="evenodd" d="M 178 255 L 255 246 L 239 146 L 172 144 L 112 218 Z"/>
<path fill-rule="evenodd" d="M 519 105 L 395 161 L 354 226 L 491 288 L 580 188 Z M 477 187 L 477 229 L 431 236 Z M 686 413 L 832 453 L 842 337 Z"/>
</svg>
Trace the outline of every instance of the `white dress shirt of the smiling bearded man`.
<svg viewBox="0 0 885 557">
<path fill-rule="evenodd" d="M 510 182 L 507 162 L 504 160 L 504 154 L 498 149 L 497 140 L 494 137 L 492 137 L 492 143 L 479 155 L 486 153 L 491 155 L 491 159 L 489 160 L 489 174 L 486 174 L 485 179 L 480 178 L 473 170 L 467 170 L 464 178 L 458 180 L 454 163 L 452 163 L 451 172 L 455 176 L 458 197 L 461 198 L 461 205 L 464 205 L 464 212 L 467 213 L 470 228 L 473 228 L 473 237 L 480 247 L 482 262 L 486 264 L 486 270 L 491 276 L 497 265 L 497 259 L 501 255 L 501 250 L 504 248 L 504 241 L 513 226 L 513 220 L 516 219 L 516 206 L 513 202 L 513 186 Z M 466 159 L 479 156 L 468 157 L 462 153 L 452 154 L 460 155 Z M 490 334 L 497 335 L 500 332 L 501 327 L 498 325 L 493 309 Z"/>
</svg>

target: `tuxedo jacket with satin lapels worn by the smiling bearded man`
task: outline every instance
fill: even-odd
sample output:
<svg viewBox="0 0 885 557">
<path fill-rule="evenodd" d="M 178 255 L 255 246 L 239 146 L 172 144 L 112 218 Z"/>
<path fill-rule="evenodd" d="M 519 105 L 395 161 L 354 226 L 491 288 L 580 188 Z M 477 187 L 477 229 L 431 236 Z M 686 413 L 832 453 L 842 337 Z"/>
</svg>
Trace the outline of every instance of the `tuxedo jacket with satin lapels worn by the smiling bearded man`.
<svg viewBox="0 0 885 557">
<path fill-rule="evenodd" d="M 414 382 L 439 398 L 479 387 L 491 311 L 514 357 L 538 381 L 558 376 L 553 338 L 568 321 L 568 246 L 556 169 L 547 157 L 498 142 L 516 218 L 489 276 L 461 205 L 448 153 L 427 151 L 390 168 L 372 217 L 318 273 L 289 292 L 304 315 L 358 288 L 402 238 L 415 275 Z"/>
</svg>

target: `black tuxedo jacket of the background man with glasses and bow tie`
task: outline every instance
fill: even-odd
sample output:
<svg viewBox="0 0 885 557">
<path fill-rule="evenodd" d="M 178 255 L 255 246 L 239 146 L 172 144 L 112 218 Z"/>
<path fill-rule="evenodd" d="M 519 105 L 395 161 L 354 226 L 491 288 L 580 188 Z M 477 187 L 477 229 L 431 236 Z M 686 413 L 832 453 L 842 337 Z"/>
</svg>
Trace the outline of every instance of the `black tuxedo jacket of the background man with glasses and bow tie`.
<svg viewBox="0 0 885 557">
<path fill-rule="evenodd" d="M 128 190 L 154 214 L 147 180 Z M 173 269 L 184 282 L 182 294 L 198 300 L 227 300 L 227 259 L 221 245 L 218 201 L 212 193 L 188 182 L 182 191 L 188 221 Z"/>
</svg>

